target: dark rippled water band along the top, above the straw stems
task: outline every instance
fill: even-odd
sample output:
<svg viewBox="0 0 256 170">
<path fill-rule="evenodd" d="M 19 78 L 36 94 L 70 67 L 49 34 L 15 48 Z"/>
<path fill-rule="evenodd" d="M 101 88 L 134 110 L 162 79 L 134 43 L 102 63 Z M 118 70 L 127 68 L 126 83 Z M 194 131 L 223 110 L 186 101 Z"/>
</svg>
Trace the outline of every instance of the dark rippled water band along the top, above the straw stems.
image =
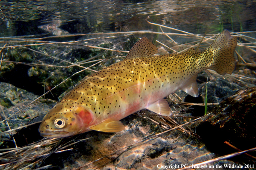
<svg viewBox="0 0 256 170">
<path fill-rule="evenodd" d="M 145 20 L 190 33 L 256 30 L 254 0 L 8 0 L 0 1 L 0 36 L 154 30 Z M 40 28 L 41 26 L 41 28 Z"/>
</svg>

